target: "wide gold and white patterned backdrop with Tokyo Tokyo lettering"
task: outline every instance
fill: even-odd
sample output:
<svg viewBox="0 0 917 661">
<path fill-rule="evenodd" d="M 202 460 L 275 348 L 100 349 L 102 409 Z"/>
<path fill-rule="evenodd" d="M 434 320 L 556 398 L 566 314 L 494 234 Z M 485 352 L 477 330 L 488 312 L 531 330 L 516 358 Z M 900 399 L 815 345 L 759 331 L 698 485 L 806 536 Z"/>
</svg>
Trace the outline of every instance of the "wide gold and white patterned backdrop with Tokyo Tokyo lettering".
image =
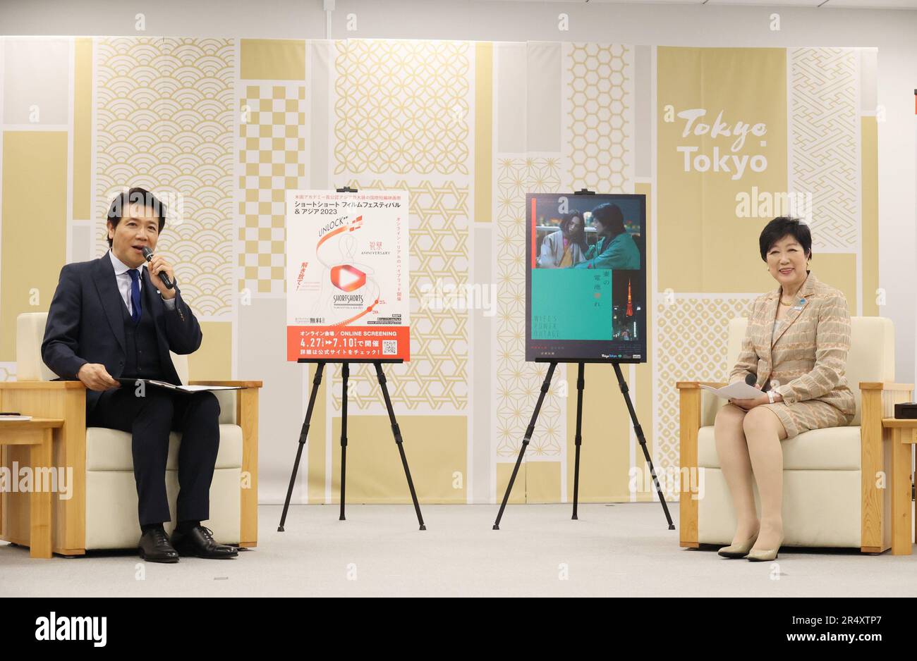
<svg viewBox="0 0 917 661">
<path fill-rule="evenodd" d="M 813 272 L 878 313 L 875 67 L 874 49 L 2 39 L 0 380 L 17 315 L 104 255 L 116 192 L 149 188 L 174 201 L 160 246 L 204 321 L 192 378 L 264 381 L 260 498 L 280 502 L 314 372 L 282 356 L 283 193 L 407 190 L 412 360 L 387 368 L 404 449 L 422 501 L 493 502 L 546 373 L 524 361 L 525 193 L 642 192 L 651 349 L 624 377 L 670 471 L 674 384 L 727 374 L 728 320 L 775 287 L 757 235 L 781 203 L 812 225 Z M 558 368 L 512 502 L 569 498 L 575 374 Z M 371 369 L 349 400 L 348 494 L 407 502 Z M 583 501 L 651 497 L 629 489 L 643 461 L 619 400 L 591 365 Z M 296 502 L 337 499 L 340 416 L 332 366 Z"/>
</svg>

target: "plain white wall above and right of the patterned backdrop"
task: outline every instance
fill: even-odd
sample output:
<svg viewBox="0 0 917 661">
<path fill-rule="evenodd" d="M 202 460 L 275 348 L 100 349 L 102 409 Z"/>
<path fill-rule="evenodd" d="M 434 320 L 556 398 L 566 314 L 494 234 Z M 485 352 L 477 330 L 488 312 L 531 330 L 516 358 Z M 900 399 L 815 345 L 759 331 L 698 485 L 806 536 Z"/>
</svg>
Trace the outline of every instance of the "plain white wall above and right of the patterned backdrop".
<svg viewBox="0 0 917 661">
<path fill-rule="evenodd" d="M 558 31 L 558 13 L 569 31 Z M 778 31 L 769 28 L 778 12 Z M 321 0 L 3 0 L 0 34 L 325 38 Z M 347 31 L 347 15 L 357 30 Z M 859 46 L 878 48 L 879 286 L 897 331 L 899 381 L 915 376 L 917 205 L 913 91 L 917 11 L 758 6 L 337 0 L 333 38 L 604 41 L 668 46 Z M 868 292 L 864 292 L 868 296 Z"/>
</svg>

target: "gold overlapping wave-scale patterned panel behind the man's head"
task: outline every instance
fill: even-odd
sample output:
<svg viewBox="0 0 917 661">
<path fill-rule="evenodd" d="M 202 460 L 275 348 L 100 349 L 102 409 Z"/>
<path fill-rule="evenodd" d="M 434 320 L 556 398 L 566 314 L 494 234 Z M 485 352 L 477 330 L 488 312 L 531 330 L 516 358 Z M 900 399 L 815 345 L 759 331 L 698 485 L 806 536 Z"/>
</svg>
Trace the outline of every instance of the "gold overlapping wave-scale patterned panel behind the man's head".
<svg viewBox="0 0 917 661">
<path fill-rule="evenodd" d="M 234 42 L 98 38 L 94 53 L 98 255 L 111 199 L 151 190 L 171 206 L 157 252 L 179 272 L 182 296 L 199 315 L 229 314 Z"/>
</svg>

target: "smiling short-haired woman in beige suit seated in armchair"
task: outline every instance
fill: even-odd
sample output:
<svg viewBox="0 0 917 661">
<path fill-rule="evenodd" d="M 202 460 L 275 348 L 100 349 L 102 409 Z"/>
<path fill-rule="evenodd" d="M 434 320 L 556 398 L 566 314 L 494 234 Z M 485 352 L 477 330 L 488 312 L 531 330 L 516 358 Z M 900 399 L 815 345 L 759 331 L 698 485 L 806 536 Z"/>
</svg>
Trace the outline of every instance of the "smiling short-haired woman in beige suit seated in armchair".
<svg viewBox="0 0 917 661">
<path fill-rule="evenodd" d="M 761 258 L 779 287 L 755 299 L 729 383 L 755 376 L 762 395 L 731 399 L 716 416 L 716 451 L 735 505 L 725 558 L 772 560 L 783 542 L 780 441 L 808 429 L 849 425 L 854 396 L 845 367 L 850 314 L 844 294 L 807 268 L 812 234 L 805 223 L 775 218 L 761 232 Z M 761 499 L 755 511 L 752 479 Z"/>
</svg>

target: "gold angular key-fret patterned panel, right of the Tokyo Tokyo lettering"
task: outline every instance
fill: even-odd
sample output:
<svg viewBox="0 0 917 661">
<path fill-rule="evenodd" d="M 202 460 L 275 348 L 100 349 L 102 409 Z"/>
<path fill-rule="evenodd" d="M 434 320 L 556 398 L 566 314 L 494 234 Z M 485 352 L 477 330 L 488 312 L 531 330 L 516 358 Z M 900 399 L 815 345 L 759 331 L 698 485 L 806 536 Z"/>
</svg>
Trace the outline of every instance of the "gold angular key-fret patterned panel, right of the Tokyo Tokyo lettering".
<svg viewBox="0 0 917 661">
<path fill-rule="evenodd" d="M 790 190 L 812 194 L 814 249 L 856 252 L 860 178 L 854 49 L 790 49 Z"/>
</svg>

